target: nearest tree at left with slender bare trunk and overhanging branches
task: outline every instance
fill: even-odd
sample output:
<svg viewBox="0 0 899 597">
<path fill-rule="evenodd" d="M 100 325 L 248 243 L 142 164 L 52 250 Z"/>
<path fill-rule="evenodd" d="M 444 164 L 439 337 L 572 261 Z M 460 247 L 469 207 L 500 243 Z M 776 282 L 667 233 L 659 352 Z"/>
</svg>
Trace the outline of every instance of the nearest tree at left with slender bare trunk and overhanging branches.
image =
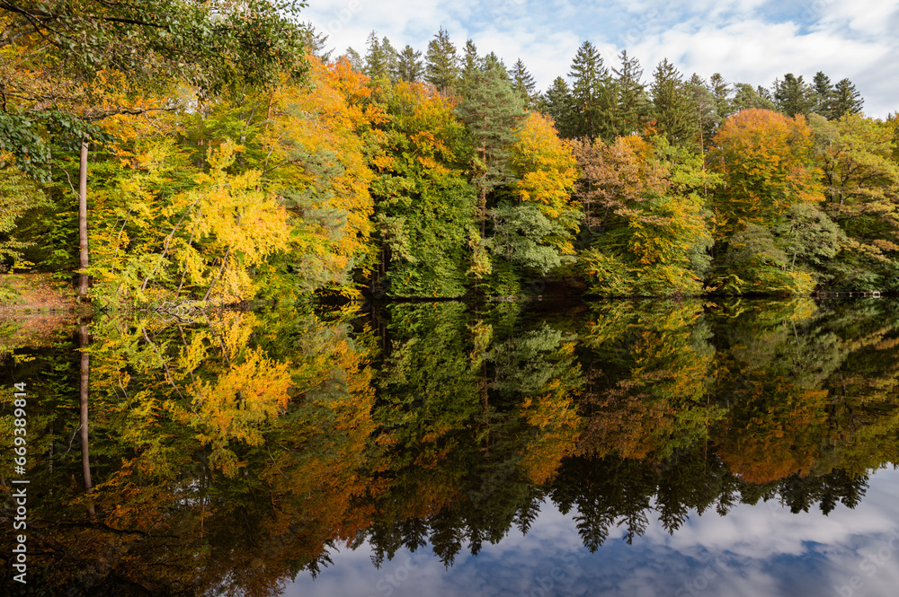
<svg viewBox="0 0 899 597">
<path fill-rule="evenodd" d="M 301 3 L 245 0 L 228 10 L 218 4 L 183 0 L 163 3 L 141 0 L 124 5 L 102 2 L 54 2 L 31 6 L 4 3 L 0 48 L 27 56 L 16 66 L 17 76 L 0 83 L 4 98 L 18 98 L 4 119 L 14 130 L 29 129 L 31 119 L 60 121 L 60 107 L 75 114 L 64 130 L 79 145 L 78 230 L 80 237 L 79 295 L 87 292 L 87 160 L 90 128 L 80 122 L 111 113 L 141 113 L 102 97 L 108 74 L 121 75 L 126 91 L 168 88 L 174 81 L 197 86 L 214 96 L 243 85 L 266 86 L 281 73 L 302 72 L 302 30 L 291 20 Z M 156 57 L 147 62 L 147 56 Z M 97 93 L 97 92 L 100 93 Z M 75 103 L 73 104 L 73 99 Z M 105 105 L 104 105 L 105 104 Z M 52 108 L 48 108 L 52 106 Z M 75 125 L 75 126 L 73 126 Z M 29 144 L 14 147 L 17 162 L 46 155 L 40 136 L 22 136 Z M 33 144 L 33 145 L 32 145 Z"/>
</svg>

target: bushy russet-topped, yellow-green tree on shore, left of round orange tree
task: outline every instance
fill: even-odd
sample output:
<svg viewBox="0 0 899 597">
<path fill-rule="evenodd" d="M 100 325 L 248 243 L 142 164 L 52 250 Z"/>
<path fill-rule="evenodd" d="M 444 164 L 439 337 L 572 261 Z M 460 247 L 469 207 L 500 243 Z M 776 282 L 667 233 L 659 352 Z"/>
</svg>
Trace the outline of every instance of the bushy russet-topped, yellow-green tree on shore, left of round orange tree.
<svg viewBox="0 0 899 597">
<path fill-rule="evenodd" d="M 592 294 L 699 294 L 711 234 L 704 193 L 718 179 L 699 156 L 656 137 L 578 145 L 591 247 L 579 256 Z"/>
</svg>

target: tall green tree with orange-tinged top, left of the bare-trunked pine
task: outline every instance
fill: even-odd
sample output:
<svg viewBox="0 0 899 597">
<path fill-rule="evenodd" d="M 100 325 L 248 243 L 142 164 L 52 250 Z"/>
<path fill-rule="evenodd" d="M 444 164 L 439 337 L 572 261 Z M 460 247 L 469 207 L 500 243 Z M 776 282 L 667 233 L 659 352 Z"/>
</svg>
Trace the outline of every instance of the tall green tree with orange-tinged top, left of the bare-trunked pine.
<svg viewBox="0 0 899 597">
<path fill-rule="evenodd" d="M 384 105 L 386 159 L 372 182 L 381 244 L 374 285 L 391 296 L 465 294 L 476 189 L 467 180 L 465 126 L 453 102 L 397 83 Z"/>
</svg>

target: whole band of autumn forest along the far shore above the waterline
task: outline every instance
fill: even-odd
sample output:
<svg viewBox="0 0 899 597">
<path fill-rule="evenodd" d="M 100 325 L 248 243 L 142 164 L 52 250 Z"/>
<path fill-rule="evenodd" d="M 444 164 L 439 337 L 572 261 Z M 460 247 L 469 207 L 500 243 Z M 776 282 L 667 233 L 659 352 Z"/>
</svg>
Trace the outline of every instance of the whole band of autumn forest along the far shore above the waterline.
<svg viewBox="0 0 899 597">
<path fill-rule="evenodd" d="M 103 308 L 899 288 L 899 120 L 848 79 L 527 67 L 303 3 L 0 2 L 0 257 Z M 810 74 L 806 74 L 808 76 Z"/>
</svg>

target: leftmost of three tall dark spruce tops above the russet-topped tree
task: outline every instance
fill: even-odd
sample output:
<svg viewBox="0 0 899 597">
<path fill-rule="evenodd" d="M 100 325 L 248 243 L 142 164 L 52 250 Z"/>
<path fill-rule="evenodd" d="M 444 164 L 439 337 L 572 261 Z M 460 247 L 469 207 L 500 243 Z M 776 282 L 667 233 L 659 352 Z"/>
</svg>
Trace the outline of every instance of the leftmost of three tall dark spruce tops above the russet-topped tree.
<svg viewBox="0 0 899 597">
<path fill-rule="evenodd" d="M 591 141 L 598 136 L 611 136 L 609 69 L 589 41 L 578 48 L 568 76 L 574 81 L 574 135 Z"/>
</svg>

